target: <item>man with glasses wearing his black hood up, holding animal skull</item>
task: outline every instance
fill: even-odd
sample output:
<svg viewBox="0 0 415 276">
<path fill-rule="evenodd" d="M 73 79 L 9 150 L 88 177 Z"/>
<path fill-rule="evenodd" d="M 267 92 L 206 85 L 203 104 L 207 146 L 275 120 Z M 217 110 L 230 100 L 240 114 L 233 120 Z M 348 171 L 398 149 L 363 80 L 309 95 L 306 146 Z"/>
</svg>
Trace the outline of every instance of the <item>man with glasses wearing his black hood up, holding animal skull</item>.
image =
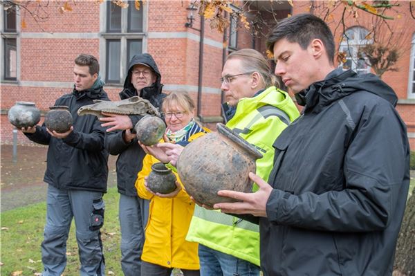
<svg viewBox="0 0 415 276">
<path fill-rule="evenodd" d="M 129 63 L 121 100 L 140 96 L 159 108 L 165 97 L 161 93 L 161 75 L 151 55 L 134 55 Z M 112 155 L 118 155 L 117 181 L 120 193 L 121 267 L 124 275 L 140 275 L 144 228 L 148 217 L 148 202 L 140 199 L 134 184 L 142 168 L 145 152 L 138 145 L 133 126 L 142 116 L 120 116 L 104 113 L 102 127 L 109 127 L 105 147 Z"/>
</svg>

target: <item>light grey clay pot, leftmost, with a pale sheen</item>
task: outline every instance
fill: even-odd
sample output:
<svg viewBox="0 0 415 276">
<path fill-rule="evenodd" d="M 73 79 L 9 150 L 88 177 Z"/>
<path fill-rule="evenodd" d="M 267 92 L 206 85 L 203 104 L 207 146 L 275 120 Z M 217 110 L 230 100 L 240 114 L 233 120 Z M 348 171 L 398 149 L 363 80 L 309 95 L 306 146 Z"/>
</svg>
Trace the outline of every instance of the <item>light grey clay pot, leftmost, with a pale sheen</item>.
<svg viewBox="0 0 415 276">
<path fill-rule="evenodd" d="M 18 129 L 33 127 L 40 120 L 40 111 L 34 102 L 16 102 L 8 111 L 8 120 Z"/>
</svg>

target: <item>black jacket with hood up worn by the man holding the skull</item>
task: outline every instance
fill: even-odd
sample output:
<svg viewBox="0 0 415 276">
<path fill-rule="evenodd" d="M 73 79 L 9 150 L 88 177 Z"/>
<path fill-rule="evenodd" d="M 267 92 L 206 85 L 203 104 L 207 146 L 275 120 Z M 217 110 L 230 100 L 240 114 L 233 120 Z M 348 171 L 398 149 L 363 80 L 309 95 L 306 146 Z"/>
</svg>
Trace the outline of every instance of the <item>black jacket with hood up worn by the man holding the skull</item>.
<svg viewBox="0 0 415 276">
<path fill-rule="evenodd" d="M 131 72 L 136 64 L 146 64 L 156 73 L 156 82 L 141 89 L 141 91 L 137 91 L 131 84 Z M 158 71 L 156 62 L 151 55 L 147 53 L 134 55 L 129 63 L 128 75 L 124 81 L 124 89 L 120 92 L 120 98 L 124 100 L 138 95 L 149 100 L 154 107 L 161 109 L 163 98 L 166 95 L 162 93 L 163 84 L 160 83 L 160 80 L 160 71 Z M 129 116 L 129 118 L 135 126 L 142 116 Z M 145 156 L 145 151 L 138 145 L 137 138 L 126 143 L 123 138 L 123 131 L 111 131 L 105 136 L 105 148 L 112 155 L 119 154 L 116 163 L 118 192 L 127 196 L 137 196 L 135 184 L 137 174 L 142 168 L 142 159 Z"/>
</svg>

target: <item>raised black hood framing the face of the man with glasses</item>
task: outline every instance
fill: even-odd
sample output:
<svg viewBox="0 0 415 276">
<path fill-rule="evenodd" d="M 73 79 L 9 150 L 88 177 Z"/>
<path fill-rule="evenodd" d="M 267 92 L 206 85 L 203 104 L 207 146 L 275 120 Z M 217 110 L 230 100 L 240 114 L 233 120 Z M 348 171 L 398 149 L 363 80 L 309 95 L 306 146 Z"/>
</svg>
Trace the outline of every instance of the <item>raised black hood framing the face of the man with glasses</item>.
<svg viewBox="0 0 415 276">
<path fill-rule="evenodd" d="M 147 86 L 141 89 L 141 91 L 136 91 L 133 84 L 131 84 L 131 73 L 133 71 L 134 65 L 137 65 L 137 64 L 144 64 L 144 65 L 149 66 L 156 74 L 156 82 L 154 82 L 154 84 L 151 84 L 151 86 Z M 149 100 L 149 98 L 153 98 L 155 95 L 160 94 L 162 88 L 163 88 L 163 84 L 161 84 L 160 71 L 158 71 L 157 64 L 154 61 L 153 57 L 151 57 L 151 55 L 147 53 L 134 55 L 128 65 L 128 74 L 124 80 L 124 90 L 120 92 L 121 100 L 131 98 L 135 95 L 138 95 L 141 98 Z"/>
</svg>

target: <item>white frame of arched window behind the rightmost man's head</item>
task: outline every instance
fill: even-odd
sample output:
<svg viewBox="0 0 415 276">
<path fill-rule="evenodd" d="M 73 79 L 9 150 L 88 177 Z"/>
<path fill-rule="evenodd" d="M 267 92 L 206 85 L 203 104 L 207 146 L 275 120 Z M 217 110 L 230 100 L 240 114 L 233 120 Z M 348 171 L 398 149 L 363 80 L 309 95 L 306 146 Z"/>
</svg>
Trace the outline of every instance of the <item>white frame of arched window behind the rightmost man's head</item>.
<svg viewBox="0 0 415 276">
<path fill-rule="evenodd" d="M 343 35 L 342 42 L 340 42 L 340 46 L 339 46 L 339 52 L 346 53 L 347 61 L 351 61 L 351 70 L 355 71 L 356 73 L 370 73 L 371 66 L 368 65 L 369 60 L 367 59 L 367 57 L 363 57 L 365 59 L 366 68 L 358 68 L 358 50 L 360 46 L 369 44 L 371 43 L 371 41 L 367 39 L 356 38 L 356 37 L 360 37 L 361 31 L 365 31 L 367 33 L 368 30 L 366 28 L 363 28 L 362 26 L 354 26 L 354 27 L 347 29 L 346 32 L 350 30 L 353 31 L 353 39 L 350 39 L 346 37 L 346 35 Z M 344 63 L 339 64 L 339 66 L 343 67 L 344 70 L 349 70 L 349 68 L 344 67 Z"/>
</svg>

